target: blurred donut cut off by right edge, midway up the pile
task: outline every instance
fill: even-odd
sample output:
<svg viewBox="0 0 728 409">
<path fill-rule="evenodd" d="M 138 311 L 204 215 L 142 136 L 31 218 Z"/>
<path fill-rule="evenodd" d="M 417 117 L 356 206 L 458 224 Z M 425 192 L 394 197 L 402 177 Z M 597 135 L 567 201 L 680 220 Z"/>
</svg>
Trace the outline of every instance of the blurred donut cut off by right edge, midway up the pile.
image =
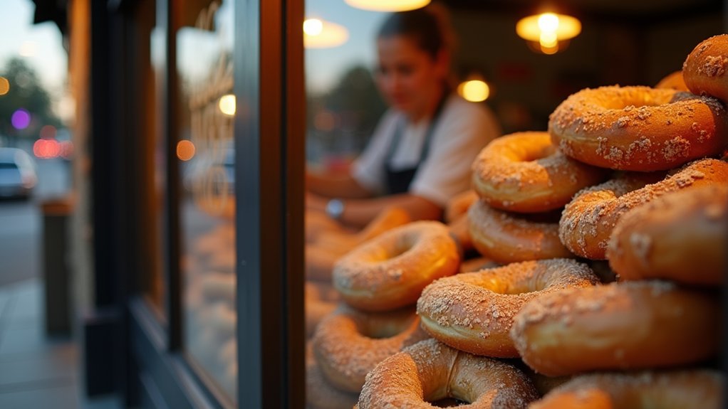
<svg viewBox="0 0 728 409">
<path fill-rule="evenodd" d="M 714 185 L 668 193 L 628 211 L 614 226 L 606 257 L 620 280 L 721 286 L 727 248 L 728 185 Z"/>
</svg>

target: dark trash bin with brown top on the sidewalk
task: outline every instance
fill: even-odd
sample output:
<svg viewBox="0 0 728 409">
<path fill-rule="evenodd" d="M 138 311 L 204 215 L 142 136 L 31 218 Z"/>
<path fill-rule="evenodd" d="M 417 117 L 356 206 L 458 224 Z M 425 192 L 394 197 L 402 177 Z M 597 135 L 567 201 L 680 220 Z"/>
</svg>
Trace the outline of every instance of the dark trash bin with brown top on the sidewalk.
<svg viewBox="0 0 728 409">
<path fill-rule="evenodd" d="M 68 269 L 70 198 L 41 202 L 45 330 L 50 336 L 71 334 L 71 276 Z"/>
</svg>

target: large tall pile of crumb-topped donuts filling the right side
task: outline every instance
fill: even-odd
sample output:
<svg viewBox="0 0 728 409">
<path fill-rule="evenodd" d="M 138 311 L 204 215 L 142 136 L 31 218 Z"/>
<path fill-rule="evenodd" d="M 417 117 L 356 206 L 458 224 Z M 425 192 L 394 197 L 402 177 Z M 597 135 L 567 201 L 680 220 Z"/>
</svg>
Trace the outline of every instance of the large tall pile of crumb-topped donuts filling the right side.
<svg viewBox="0 0 728 409">
<path fill-rule="evenodd" d="M 684 81 L 584 89 L 485 147 L 467 237 L 505 265 L 424 288 L 434 339 L 377 365 L 358 408 L 721 407 L 727 68 L 715 36 Z"/>
</svg>

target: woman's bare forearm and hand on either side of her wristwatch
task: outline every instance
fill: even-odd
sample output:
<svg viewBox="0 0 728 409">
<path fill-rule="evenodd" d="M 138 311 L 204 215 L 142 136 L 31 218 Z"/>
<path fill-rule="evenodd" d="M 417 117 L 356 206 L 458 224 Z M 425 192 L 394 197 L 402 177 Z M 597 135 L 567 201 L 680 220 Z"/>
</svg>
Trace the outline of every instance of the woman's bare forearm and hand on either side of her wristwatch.
<svg viewBox="0 0 728 409">
<path fill-rule="evenodd" d="M 403 208 L 415 220 L 439 220 L 443 208 L 422 196 L 403 193 L 381 198 L 344 200 L 344 213 L 339 221 L 352 227 L 362 228 L 371 222 L 383 208 L 395 206 Z M 312 210 L 325 211 L 328 200 L 320 196 L 307 195 L 306 206 Z"/>
</svg>

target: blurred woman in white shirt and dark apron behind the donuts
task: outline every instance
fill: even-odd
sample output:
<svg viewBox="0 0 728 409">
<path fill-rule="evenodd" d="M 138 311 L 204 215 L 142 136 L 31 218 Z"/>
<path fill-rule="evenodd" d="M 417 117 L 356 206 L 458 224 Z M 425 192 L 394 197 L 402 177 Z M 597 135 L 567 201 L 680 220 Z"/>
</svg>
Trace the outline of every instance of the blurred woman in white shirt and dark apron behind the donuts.
<svg viewBox="0 0 728 409">
<path fill-rule="evenodd" d="M 501 134 L 484 105 L 451 84 L 454 35 L 439 4 L 389 15 L 376 38 L 375 81 L 389 105 L 346 174 L 306 172 L 306 210 L 360 229 L 383 208 L 414 220 L 443 217 L 470 188 L 470 166 Z"/>
</svg>

